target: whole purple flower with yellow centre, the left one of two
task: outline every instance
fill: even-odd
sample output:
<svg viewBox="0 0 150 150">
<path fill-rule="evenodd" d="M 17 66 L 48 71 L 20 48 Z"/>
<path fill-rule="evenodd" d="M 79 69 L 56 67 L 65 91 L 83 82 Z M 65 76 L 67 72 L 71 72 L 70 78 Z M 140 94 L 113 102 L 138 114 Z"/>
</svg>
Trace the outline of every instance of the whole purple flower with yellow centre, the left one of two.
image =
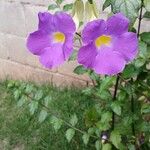
<svg viewBox="0 0 150 150">
<path fill-rule="evenodd" d="M 39 56 L 46 68 L 57 67 L 72 53 L 75 23 L 71 16 L 63 12 L 40 12 L 38 17 L 38 30 L 29 35 L 27 48 Z"/>
</svg>

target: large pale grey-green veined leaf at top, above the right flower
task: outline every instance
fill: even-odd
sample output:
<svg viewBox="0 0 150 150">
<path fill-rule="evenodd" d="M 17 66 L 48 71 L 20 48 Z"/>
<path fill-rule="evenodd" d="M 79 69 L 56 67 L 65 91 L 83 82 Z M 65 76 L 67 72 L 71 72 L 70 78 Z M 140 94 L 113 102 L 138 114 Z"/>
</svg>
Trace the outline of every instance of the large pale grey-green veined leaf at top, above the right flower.
<svg viewBox="0 0 150 150">
<path fill-rule="evenodd" d="M 141 0 L 111 0 L 111 6 L 114 13 L 122 12 L 133 25 L 138 17 Z"/>
</svg>

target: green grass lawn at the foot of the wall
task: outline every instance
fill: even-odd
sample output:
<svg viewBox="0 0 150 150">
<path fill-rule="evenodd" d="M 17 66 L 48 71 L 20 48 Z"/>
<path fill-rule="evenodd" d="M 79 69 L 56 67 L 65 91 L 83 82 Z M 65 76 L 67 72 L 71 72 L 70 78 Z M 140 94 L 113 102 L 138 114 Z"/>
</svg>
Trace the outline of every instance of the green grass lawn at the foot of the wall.
<svg viewBox="0 0 150 150">
<path fill-rule="evenodd" d="M 0 150 L 92 150 L 93 143 L 85 146 L 81 133 L 76 132 L 68 143 L 65 138 L 66 125 L 56 133 L 49 119 L 38 122 L 38 114 L 30 115 L 28 105 L 17 107 L 6 82 L 0 84 Z M 50 85 L 36 85 L 37 89 L 47 91 L 52 96 L 50 110 L 61 118 L 69 120 L 74 113 L 78 116 L 77 127 L 83 127 L 85 109 L 94 105 L 91 98 L 82 95 L 80 89 L 59 89 Z"/>
</svg>

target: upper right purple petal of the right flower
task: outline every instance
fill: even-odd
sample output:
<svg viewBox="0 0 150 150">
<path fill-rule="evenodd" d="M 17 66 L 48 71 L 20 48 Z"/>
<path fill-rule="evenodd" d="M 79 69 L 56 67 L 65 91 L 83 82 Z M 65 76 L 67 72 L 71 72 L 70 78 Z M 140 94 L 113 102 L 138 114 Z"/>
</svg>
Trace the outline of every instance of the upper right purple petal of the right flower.
<svg viewBox="0 0 150 150">
<path fill-rule="evenodd" d="M 128 31 L 129 19 L 123 14 L 117 13 L 107 20 L 108 34 L 120 35 Z"/>
</svg>

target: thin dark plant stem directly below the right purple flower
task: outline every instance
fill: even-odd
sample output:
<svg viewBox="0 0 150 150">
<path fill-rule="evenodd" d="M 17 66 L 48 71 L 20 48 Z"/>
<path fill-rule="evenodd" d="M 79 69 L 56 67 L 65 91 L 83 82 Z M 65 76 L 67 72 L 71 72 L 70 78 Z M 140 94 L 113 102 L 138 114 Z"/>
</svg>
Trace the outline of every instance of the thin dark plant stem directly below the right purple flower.
<svg viewBox="0 0 150 150">
<path fill-rule="evenodd" d="M 117 79 L 116 79 L 116 84 L 115 84 L 115 91 L 114 91 L 114 95 L 113 95 L 113 101 L 116 100 L 116 96 L 117 96 L 117 91 L 118 91 L 118 85 L 119 85 L 119 75 L 117 75 Z M 115 113 L 113 112 L 112 114 L 112 130 L 114 130 L 115 128 Z"/>
</svg>

